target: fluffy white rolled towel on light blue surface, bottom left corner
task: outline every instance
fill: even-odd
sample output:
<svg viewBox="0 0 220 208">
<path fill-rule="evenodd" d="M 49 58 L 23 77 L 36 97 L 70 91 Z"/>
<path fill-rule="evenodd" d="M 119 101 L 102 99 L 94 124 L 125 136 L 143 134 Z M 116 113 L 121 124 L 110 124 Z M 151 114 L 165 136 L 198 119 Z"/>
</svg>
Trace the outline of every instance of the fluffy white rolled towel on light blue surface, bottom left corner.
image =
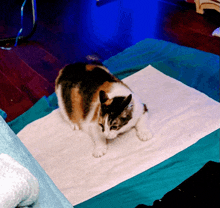
<svg viewBox="0 0 220 208">
<path fill-rule="evenodd" d="M 28 169 L 0 154 L 0 208 L 37 204 L 39 184 Z"/>
</svg>

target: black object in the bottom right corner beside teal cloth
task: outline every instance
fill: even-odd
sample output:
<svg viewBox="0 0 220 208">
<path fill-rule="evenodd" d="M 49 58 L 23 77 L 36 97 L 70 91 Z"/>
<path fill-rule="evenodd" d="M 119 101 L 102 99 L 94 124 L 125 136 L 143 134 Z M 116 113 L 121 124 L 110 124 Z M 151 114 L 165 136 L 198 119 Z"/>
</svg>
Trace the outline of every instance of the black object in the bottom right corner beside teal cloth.
<svg viewBox="0 0 220 208">
<path fill-rule="evenodd" d="M 209 161 L 153 206 L 140 204 L 136 208 L 217 208 L 220 207 L 220 163 Z"/>
</svg>

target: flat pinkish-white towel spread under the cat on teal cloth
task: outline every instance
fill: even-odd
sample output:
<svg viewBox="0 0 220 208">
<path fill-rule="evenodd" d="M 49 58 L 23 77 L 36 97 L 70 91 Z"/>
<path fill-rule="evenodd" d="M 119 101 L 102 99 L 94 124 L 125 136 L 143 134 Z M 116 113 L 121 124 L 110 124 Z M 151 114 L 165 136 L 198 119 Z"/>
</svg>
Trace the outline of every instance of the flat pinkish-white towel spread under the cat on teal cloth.
<svg viewBox="0 0 220 208">
<path fill-rule="evenodd" d="M 73 131 L 59 109 L 18 133 L 66 198 L 76 205 L 172 157 L 219 128 L 220 104 L 152 66 L 124 82 L 147 104 L 154 137 L 140 141 L 131 130 L 94 158 L 93 142 Z"/>
</svg>

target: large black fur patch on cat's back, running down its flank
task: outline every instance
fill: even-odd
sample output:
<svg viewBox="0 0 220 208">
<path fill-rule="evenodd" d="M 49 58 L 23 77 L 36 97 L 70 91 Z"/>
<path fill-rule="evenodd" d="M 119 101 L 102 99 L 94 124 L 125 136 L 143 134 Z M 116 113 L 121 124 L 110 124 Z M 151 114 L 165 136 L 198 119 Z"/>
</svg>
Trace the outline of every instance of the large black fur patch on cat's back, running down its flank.
<svg viewBox="0 0 220 208">
<path fill-rule="evenodd" d="M 109 74 L 105 70 L 95 67 L 92 71 L 86 70 L 86 63 L 75 63 L 67 65 L 57 80 L 57 84 L 62 84 L 62 93 L 66 110 L 72 112 L 71 106 L 71 88 L 78 86 L 79 93 L 83 102 L 83 117 L 85 118 L 89 112 L 93 95 L 97 89 L 106 81 L 117 82 L 118 79 Z M 65 93 L 64 93 L 65 92 Z"/>
</svg>

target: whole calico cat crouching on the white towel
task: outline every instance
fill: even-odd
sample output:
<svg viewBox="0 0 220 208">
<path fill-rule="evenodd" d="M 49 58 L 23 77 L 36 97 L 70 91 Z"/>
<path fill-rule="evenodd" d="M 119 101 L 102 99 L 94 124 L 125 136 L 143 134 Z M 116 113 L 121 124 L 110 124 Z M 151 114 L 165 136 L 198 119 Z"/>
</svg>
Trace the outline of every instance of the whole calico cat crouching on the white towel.
<svg viewBox="0 0 220 208">
<path fill-rule="evenodd" d="M 55 83 L 60 112 L 73 130 L 93 139 L 94 157 L 107 151 L 107 139 L 135 127 L 148 140 L 147 107 L 122 81 L 100 64 L 75 63 L 60 70 Z"/>
</svg>

